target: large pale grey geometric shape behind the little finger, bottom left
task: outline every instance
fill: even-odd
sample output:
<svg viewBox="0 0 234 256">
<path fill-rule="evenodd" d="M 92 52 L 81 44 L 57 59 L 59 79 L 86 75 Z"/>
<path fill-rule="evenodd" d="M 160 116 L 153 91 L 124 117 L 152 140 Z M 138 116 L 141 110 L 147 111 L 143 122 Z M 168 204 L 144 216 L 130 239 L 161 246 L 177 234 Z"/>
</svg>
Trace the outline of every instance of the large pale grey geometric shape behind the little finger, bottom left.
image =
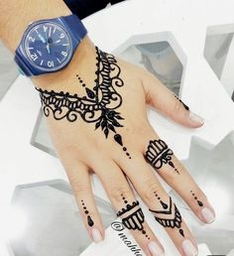
<svg viewBox="0 0 234 256">
<path fill-rule="evenodd" d="M 95 202 L 104 227 L 109 226 L 116 218 L 111 205 L 99 197 Z M 71 189 L 64 181 L 18 186 L 11 206 L 24 214 L 16 214 L 12 221 L 25 220 L 17 236 L 11 237 L 15 230 L 9 231 L 14 256 L 74 256 L 91 243 Z"/>
</svg>

